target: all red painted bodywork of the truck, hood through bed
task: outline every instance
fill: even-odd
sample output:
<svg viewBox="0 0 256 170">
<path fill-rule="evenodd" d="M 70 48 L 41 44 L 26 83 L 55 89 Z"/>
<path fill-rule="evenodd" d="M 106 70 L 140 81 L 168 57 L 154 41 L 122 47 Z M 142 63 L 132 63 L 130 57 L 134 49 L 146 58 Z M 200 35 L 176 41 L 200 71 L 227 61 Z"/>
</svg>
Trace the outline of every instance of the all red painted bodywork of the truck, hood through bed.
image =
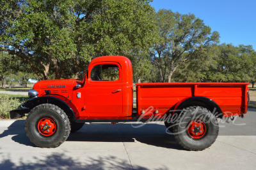
<svg viewBox="0 0 256 170">
<path fill-rule="evenodd" d="M 93 67 L 113 64 L 118 67 L 119 77 L 115 81 L 95 81 L 91 78 Z M 76 88 L 76 85 L 81 85 Z M 249 83 L 137 83 L 136 105 L 140 116 L 142 111 L 150 117 L 163 117 L 175 110 L 189 97 L 203 96 L 214 101 L 224 117 L 242 115 L 247 111 Z M 88 66 L 88 75 L 83 81 L 45 80 L 34 85 L 38 96 L 51 96 L 65 101 L 74 111 L 77 119 L 131 119 L 132 118 L 132 65 L 127 57 L 97 57 Z M 117 90 L 117 91 L 116 91 Z M 78 97 L 81 96 L 81 97 Z M 158 113 L 157 113 L 158 112 Z"/>
</svg>

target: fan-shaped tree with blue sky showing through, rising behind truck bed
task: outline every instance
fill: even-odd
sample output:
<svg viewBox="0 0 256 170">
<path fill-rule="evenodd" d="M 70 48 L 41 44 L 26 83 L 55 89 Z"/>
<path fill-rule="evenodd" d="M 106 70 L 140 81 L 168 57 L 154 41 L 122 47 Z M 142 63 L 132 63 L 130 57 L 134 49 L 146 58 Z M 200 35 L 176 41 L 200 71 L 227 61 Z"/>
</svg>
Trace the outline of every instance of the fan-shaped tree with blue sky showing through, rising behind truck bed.
<svg viewBox="0 0 256 170">
<path fill-rule="evenodd" d="M 157 12 L 158 41 L 154 45 L 152 60 L 159 69 L 160 81 L 171 81 L 177 67 L 187 60 L 200 57 L 203 48 L 218 43 L 219 34 L 193 14 Z"/>
</svg>

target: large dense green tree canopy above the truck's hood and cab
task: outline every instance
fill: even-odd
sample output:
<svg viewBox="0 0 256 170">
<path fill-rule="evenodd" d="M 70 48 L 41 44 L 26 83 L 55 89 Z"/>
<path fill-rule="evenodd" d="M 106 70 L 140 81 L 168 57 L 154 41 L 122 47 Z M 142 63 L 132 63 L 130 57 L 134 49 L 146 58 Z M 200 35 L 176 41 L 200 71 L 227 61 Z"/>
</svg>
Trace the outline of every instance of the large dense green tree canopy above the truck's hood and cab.
<svg viewBox="0 0 256 170">
<path fill-rule="evenodd" d="M 1 1 L 1 50 L 41 79 L 79 77 L 94 57 L 148 52 L 154 8 L 147 0 Z"/>
</svg>

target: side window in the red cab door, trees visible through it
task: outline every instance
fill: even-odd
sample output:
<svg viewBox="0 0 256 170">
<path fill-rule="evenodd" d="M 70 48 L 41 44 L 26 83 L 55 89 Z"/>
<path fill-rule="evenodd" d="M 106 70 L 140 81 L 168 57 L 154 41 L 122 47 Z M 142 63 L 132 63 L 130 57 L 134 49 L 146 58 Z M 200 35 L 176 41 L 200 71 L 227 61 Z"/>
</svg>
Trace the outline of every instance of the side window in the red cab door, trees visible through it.
<svg viewBox="0 0 256 170">
<path fill-rule="evenodd" d="M 92 68 L 91 80 L 116 81 L 119 79 L 119 68 L 115 64 L 102 64 Z"/>
</svg>

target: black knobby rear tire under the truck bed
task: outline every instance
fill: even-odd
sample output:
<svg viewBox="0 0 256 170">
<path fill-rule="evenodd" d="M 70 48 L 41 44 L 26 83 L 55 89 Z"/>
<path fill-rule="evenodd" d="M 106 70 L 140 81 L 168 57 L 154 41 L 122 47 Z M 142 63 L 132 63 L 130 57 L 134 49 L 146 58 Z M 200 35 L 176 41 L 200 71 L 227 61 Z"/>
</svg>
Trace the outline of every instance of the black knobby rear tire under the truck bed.
<svg viewBox="0 0 256 170">
<path fill-rule="evenodd" d="M 200 124 L 204 125 L 205 131 L 202 136 L 191 134 L 192 130 L 193 133 L 195 133 L 195 131 L 198 132 L 198 129 L 195 129 L 196 127 L 194 125 L 192 126 L 194 122 L 195 124 L 200 122 Z M 195 128 L 193 129 L 192 127 Z M 219 125 L 216 117 L 211 111 L 199 106 L 185 108 L 180 113 L 177 124 L 173 126 L 173 134 L 176 141 L 180 146 L 191 151 L 209 148 L 209 146 L 216 141 L 218 132 Z"/>
</svg>

